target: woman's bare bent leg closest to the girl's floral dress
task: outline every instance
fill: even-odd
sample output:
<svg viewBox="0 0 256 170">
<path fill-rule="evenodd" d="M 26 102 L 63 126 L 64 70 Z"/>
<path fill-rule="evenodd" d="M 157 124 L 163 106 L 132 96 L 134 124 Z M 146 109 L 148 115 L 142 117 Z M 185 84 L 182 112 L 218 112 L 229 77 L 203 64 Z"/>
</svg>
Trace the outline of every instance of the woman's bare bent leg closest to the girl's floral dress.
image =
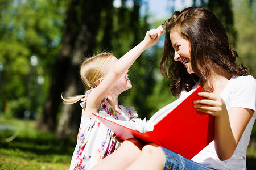
<svg viewBox="0 0 256 170">
<path fill-rule="evenodd" d="M 138 139 L 127 139 L 117 150 L 97 163 L 92 170 L 125 169 L 138 158 L 142 147 L 143 145 Z"/>
</svg>

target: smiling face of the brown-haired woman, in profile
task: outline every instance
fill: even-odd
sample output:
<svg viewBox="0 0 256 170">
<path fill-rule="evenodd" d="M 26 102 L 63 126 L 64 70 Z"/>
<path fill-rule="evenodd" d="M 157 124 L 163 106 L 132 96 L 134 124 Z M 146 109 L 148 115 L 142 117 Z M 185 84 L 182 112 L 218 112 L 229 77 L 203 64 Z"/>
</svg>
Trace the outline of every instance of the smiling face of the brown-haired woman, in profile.
<svg viewBox="0 0 256 170">
<path fill-rule="evenodd" d="M 170 39 L 174 48 L 174 60 L 183 63 L 189 74 L 194 73 L 191 65 L 190 42 L 181 37 L 176 30 L 171 31 Z"/>
</svg>

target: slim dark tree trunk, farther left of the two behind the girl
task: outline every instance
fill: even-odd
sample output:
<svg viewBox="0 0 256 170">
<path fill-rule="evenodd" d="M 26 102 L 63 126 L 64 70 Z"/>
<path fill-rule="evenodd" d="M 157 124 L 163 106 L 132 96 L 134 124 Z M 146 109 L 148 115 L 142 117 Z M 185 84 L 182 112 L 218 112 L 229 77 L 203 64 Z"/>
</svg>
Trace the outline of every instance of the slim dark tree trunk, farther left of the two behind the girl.
<svg viewBox="0 0 256 170">
<path fill-rule="evenodd" d="M 67 67 L 70 62 L 70 56 L 75 46 L 77 36 L 77 10 L 79 0 L 73 0 L 70 8 L 66 13 L 65 31 L 62 40 L 62 48 L 53 65 L 51 88 L 46 104 L 44 105 L 43 113 L 40 116 L 37 128 L 44 131 L 54 131 L 57 123 L 57 113 L 61 103 L 61 92 L 64 91 L 64 80 L 67 75 Z"/>
</svg>

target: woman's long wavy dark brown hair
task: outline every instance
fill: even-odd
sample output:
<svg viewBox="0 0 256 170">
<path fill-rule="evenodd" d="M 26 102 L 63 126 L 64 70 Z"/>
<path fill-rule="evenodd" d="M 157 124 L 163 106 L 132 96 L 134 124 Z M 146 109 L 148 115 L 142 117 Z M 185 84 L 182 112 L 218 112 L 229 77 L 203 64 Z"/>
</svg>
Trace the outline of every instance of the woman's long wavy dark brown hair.
<svg viewBox="0 0 256 170">
<path fill-rule="evenodd" d="M 172 80 L 172 95 L 179 95 L 182 88 L 190 91 L 196 82 L 204 86 L 212 67 L 221 67 L 237 76 L 251 74 L 251 69 L 236 64 L 238 54 L 230 48 L 228 34 L 212 12 L 196 7 L 176 11 L 172 18 L 167 20 L 165 29 L 166 39 L 160 73 Z M 195 74 L 188 74 L 183 63 L 174 61 L 174 49 L 170 39 L 170 33 L 174 29 L 191 44 L 191 65 Z"/>
</svg>

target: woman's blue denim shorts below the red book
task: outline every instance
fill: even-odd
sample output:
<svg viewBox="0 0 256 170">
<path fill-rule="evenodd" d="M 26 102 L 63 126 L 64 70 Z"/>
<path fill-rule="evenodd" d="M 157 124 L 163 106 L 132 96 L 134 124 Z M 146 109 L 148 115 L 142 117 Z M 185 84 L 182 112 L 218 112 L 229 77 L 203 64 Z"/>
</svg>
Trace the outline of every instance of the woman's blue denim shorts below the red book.
<svg viewBox="0 0 256 170">
<path fill-rule="evenodd" d="M 167 150 L 167 148 L 161 147 L 163 152 L 164 152 L 164 159 L 165 159 L 165 164 L 164 164 L 164 170 L 183 170 L 183 169 L 189 169 L 189 170 L 201 170 L 201 169 L 211 169 L 205 167 L 204 165 L 201 165 L 199 163 L 193 162 L 190 159 L 187 159 L 180 154 L 176 154 L 175 152 L 172 152 L 170 150 Z"/>
</svg>

